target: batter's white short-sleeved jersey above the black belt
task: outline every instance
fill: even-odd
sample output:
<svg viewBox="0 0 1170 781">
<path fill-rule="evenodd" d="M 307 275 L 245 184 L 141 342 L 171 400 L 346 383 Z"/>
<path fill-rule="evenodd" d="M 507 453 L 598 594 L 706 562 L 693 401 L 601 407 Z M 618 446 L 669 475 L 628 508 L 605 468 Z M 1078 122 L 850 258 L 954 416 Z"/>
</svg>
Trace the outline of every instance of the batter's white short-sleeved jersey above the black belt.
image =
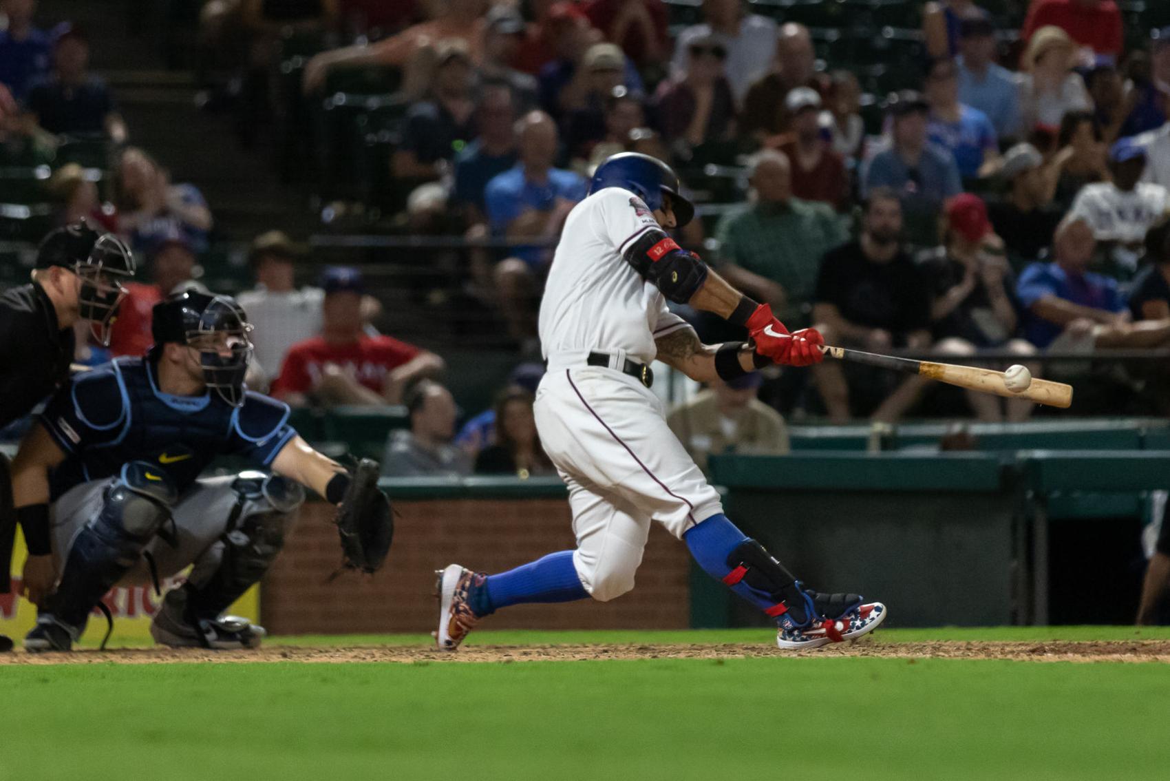
<svg viewBox="0 0 1170 781">
<path fill-rule="evenodd" d="M 596 192 L 569 213 L 541 301 L 541 345 L 550 364 L 590 350 L 651 363 L 655 338 L 687 328 L 621 256 L 655 228 L 642 199 L 620 187 Z"/>
</svg>

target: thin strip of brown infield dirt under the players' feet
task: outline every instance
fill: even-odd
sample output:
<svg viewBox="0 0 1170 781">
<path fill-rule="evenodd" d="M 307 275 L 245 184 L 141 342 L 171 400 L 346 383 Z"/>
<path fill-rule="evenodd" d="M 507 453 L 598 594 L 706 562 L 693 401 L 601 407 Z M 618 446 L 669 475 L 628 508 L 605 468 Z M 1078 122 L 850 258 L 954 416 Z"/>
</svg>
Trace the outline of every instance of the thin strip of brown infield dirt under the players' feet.
<svg viewBox="0 0 1170 781">
<path fill-rule="evenodd" d="M 599 659 L 735 659 L 762 657 L 875 657 L 901 659 L 1007 659 L 1017 662 L 1157 662 L 1170 664 L 1170 640 L 1095 642 L 963 642 L 883 643 L 880 639 L 792 653 L 766 645 L 587 644 L 587 645 L 468 645 L 455 653 L 431 648 L 363 645 L 351 648 L 271 646 L 249 651 L 202 649 L 80 650 L 74 653 L 0 655 L 0 665 L 53 664 L 170 664 L 304 662 L 516 663 Z"/>
</svg>

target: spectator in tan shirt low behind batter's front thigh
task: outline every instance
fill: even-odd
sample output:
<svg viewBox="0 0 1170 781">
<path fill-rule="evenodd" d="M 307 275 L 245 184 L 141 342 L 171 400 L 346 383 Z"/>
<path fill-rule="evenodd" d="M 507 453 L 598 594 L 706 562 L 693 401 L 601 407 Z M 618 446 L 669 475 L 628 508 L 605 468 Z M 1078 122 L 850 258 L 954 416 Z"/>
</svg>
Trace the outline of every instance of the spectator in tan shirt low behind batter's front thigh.
<svg viewBox="0 0 1170 781">
<path fill-rule="evenodd" d="M 706 472 L 708 458 L 722 453 L 783 455 L 789 452 L 784 418 L 756 398 L 762 382 L 759 372 L 731 382 L 717 379 L 670 410 L 667 425 L 698 468 Z"/>
</svg>

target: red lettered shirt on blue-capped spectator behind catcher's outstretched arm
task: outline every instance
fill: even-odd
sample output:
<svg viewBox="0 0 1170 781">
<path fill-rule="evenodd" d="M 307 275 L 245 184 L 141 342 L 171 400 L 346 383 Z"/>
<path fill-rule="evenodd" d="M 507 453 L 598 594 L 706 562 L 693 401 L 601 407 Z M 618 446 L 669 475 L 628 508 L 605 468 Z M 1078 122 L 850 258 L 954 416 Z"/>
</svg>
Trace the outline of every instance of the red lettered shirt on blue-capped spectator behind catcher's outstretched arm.
<svg viewBox="0 0 1170 781">
<path fill-rule="evenodd" d="M 363 335 L 349 344 L 329 344 L 323 337 L 314 336 L 289 348 L 270 392 L 276 397 L 308 393 L 321 379 L 322 368 L 336 363 L 359 383 L 380 393 L 390 372 L 420 352 L 413 344 L 390 336 Z"/>
</svg>

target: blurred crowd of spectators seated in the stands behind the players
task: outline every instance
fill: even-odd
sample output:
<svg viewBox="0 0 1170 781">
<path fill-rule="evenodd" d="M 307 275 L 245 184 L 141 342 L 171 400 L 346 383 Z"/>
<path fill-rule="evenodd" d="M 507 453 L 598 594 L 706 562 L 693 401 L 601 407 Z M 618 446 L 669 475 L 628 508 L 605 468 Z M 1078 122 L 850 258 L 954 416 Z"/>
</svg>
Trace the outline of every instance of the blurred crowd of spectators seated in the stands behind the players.
<svg viewBox="0 0 1170 781">
<path fill-rule="evenodd" d="M 50 164 L 62 133 L 125 138 L 85 69 L 84 34 L 42 34 L 33 6 L 0 4 L 0 166 Z M 323 215 L 358 203 L 400 213 L 391 231 L 449 237 L 466 294 L 530 355 L 563 221 L 592 167 L 632 150 L 674 165 L 698 204 L 679 240 L 790 327 L 872 351 L 1108 375 L 1145 391 L 1135 411 L 1170 411 L 1164 356 L 1092 362 L 1170 348 L 1162 4 L 209 0 L 199 25 L 200 73 L 229 76 L 208 83 L 234 101 L 245 143 L 273 128 L 282 159 L 315 160 Z M 131 341 L 115 340 L 136 351 L 142 315 L 191 278 L 212 215 L 146 152 L 119 145 L 113 159 L 108 201 L 81 166 L 58 166 L 53 187 L 61 219 L 108 225 L 151 259 L 152 285 L 118 321 Z M 252 261 L 259 285 L 241 300 L 259 381 L 295 404 L 406 403 L 418 425 L 388 461 L 452 440 L 441 388 L 418 382 L 441 358 L 376 335 L 378 302 L 352 269 L 298 289 L 305 253 L 275 234 Z M 708 341 L 739 337 L 682 314 Z M 355 354 L 339 359 L 340 342 Z M 840 364 L 800 377 L 769 377 L 758 393 L 784 412 L 894 420 L 927 391 Z M 522 417 L 507 412 L 524 398 L 512 391 L 501 419 Z M 700 417 L 738 410 L 732 398 L 713 391 Z M 977 395 L 925 403 L 985 420 L 1033 412 Z M 508 441 L 525 440 L 523 420 L 512 429 Z M 440 460 L 473 468 L 479 447 L 452 447 Z M 514 450 L 519 468 L 538 470 L 529 445 Z"/>
</svg>

